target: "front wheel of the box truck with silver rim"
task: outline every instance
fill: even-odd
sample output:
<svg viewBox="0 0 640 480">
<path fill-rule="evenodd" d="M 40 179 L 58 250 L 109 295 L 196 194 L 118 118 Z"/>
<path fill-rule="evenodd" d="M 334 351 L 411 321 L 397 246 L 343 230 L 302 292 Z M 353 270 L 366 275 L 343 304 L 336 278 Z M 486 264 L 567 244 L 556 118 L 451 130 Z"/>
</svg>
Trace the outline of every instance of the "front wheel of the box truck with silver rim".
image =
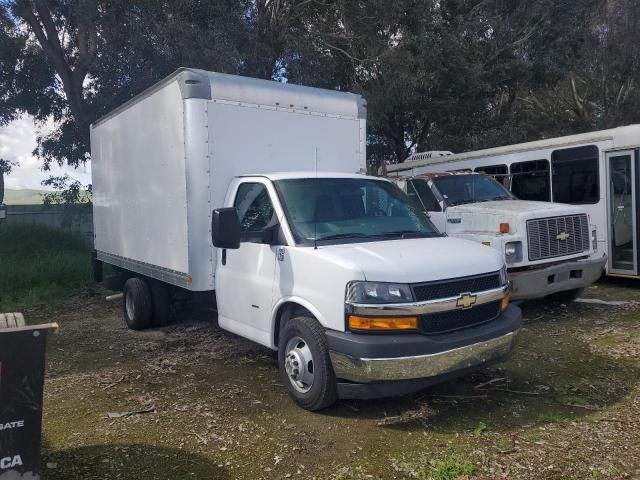
<svg viewBox="0 0 640 480">
<path fill-rule="evenodd" d="M 296 317 L 280 332 L 278 366 L 289 396 L 306 410 L 322 410 L 338 398 L 324 329 L 315 318 Z"/>
</svg>

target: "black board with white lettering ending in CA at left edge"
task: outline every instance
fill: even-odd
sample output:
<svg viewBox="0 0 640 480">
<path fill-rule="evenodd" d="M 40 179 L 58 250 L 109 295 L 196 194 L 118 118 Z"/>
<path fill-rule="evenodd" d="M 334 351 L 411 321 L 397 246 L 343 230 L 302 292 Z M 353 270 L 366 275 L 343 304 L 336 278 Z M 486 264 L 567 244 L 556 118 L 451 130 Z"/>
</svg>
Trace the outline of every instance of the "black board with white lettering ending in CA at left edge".
<svg viewBox="0 0 640 480">
<path fill-rule="evenodd" d="M 47 332 L 0 329 L 0 479 L 38 479 Z"/>
</svg>

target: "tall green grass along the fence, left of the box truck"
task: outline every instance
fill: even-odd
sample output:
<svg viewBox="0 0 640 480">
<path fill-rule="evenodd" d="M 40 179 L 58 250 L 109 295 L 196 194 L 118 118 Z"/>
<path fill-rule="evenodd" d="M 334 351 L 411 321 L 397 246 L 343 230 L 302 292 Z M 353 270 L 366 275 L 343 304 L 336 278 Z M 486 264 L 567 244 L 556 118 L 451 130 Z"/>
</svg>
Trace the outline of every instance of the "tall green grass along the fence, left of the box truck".
<svg viewBox="0 0 640 480">
<path fill-rule="evenodd" d="M 92 285 L 90 247 L 41 225 L 0 225 L 0 312 L 56 304 Z"/>
</svg>

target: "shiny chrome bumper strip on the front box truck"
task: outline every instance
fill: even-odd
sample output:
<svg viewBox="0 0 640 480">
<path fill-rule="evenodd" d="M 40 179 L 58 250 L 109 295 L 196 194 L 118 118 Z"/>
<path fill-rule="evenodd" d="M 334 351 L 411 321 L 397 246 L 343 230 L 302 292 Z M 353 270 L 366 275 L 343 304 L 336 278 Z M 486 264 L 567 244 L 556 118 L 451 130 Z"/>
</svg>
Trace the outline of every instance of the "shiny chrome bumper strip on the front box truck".
<svg viewBox="0 0 640 480">
<path fill-rule="evenodd" d="M 428 355 L 354 358 L 330 352 L 336 377 L 357 383 L 436 377 L 499 360 L 513 349 L 518 331 L 491 340 Z"/>
</svg>

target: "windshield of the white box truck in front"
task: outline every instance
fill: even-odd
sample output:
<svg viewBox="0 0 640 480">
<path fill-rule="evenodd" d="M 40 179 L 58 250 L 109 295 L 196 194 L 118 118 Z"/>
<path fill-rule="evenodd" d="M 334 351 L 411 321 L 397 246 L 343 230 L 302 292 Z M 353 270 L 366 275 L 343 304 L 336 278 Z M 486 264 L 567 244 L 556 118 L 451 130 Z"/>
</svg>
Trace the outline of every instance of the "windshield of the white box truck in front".
<svg viewBox="0 0 640 480">
<path fill-rule="evenodd" d="M 274 184 L 298 244 L 440 236 L 421 208 L 387 181 L 304 178 Z"/>
</svg>

